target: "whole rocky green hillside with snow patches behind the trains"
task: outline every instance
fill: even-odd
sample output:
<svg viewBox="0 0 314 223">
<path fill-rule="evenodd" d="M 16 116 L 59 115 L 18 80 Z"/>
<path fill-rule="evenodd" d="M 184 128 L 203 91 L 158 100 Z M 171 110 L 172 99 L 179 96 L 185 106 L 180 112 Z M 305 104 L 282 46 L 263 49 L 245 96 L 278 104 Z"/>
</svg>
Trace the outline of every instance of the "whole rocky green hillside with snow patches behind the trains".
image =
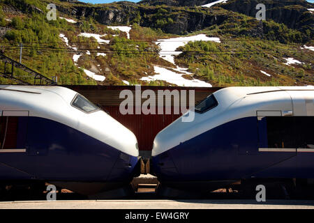
<svg viewBox="0 0 314 223">
<path fill-rule="evenodd" d="M 23 43 L 22 63 L 59 84 L 314 84 L 313 4 L 267 0 L 257 21 L 256 3 L 3 0 L 1 49 L 18 59 Z"/>
</svg>

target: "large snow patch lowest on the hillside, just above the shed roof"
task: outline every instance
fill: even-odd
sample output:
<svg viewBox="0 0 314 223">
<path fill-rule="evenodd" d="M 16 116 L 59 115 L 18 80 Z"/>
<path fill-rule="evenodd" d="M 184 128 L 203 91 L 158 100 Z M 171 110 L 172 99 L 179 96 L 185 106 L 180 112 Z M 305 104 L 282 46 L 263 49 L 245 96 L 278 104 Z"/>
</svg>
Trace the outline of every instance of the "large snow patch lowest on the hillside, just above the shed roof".
<svg viewBox="0 0 314 223">
<path fill-rule="evenodd" d="M 185 79 L 184 77 L 182 77 L 181 74 L 178 74 L 177 72 L 173 72 L 166 68 L 160 68 L 158 66 L 154 66 L 154 71 L 158 73 L 158 75 L 142 77 L 140 80 L 146 81 L 146 82 L 162 80 L 170 84 L 176 84 L 178 86 L 211 87 L 211 84 L 207 82 L 203 82 L 199 79 Z"/>
</svg>

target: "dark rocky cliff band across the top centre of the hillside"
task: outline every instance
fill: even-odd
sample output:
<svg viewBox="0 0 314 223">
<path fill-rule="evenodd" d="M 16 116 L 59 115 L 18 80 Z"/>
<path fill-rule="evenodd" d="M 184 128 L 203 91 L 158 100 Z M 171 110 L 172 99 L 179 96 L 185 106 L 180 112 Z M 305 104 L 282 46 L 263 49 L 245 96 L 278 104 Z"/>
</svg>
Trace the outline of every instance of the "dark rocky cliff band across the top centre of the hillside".
<svg viewBox="0 0 314 223">
<path fill-rule="evenodd" d="M 167 7 L 160 13 L 160 8 L 139 6 L 131 3 L 119 3 L 103 7 L 58 7 L 57 9 L 62 13 L 70 14 L 77 18 L 91 16 L 97 22 L 106 25 L 128 25 L 136 20 L 140 26 L 159 28 L 166 33 L 173 34 L 184 34 L 204 29 L 213 24 L 221 24 L 227 18 L 227 13 L 211 15 L 211 13 L 182 10 L 177 7 Z"/>
</svg>

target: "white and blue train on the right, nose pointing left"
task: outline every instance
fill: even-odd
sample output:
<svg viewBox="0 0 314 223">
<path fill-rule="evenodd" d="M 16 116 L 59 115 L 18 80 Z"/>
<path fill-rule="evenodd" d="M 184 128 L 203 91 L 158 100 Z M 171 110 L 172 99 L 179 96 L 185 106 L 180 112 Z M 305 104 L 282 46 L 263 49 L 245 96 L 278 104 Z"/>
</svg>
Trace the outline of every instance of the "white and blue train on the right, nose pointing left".
<svg viewBox="0 0 314 223">
<path fill-rule="evenodd" d="M 181 117 L 182 118 L 182 117 Z M 314 87 L 230 87 L 178 118 L 152 150 L 161 185 L 216 190 L 243 179 L 314 178 Z"/>
</svg>

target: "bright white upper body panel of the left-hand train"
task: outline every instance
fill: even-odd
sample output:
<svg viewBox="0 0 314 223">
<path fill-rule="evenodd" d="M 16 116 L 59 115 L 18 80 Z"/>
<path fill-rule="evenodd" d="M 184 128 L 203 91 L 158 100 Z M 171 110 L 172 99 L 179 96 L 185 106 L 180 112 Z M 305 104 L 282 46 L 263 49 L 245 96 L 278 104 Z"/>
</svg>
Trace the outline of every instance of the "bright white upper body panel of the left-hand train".
<svg viewBox="0 0 314 223">
<path fill-rule="evenodd" d="M 77 92 L 61 86 L 0 85 L 0 111 L 29 111 L 29 116 L 63 123 L 128 155 L 138 156 L 133 132 L 102 110 L 85 113 L 73 107 L 70 104 L 75 95 Z"/>
</svg>

